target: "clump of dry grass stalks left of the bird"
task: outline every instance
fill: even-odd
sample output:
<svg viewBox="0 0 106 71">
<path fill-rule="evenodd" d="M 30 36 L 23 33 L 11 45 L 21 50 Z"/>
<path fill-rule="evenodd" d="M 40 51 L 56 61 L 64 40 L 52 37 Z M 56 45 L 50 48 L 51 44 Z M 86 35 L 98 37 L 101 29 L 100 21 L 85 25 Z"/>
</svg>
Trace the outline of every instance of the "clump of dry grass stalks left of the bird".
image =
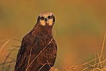
<svg viewBox="0 0 106 71">
<path fill-rule="evenodd" d="M 2 51 L 2 49 L 12 40 L 16 40 L 16 39 L 9 39 L 7 40 L 3 45 L 2 47 L 0 48 L 0 51 Z M 19 41 L 19 40 L 16 40 L 16 41 Z M 15 48 L 13 48 L 9 53 L 8 55 L 6 55 L 6 58 L 4 60 L 3 63 L 0 64 L 0 66 L 2 66 L 1 70 L 4 71 L 5 68 L 5 65 L 8 64 L 8 69 L 6 71 L 13 71 L 11 69 L 11 67 L 15 64 L 15 59 L 11 57 L 11 54 L 13 53 L 13 51 L 15 51 L 17 49 L 17 47 L 19 48 L 19 46 L 16 46 L 14 45 Z"/>
</svg>

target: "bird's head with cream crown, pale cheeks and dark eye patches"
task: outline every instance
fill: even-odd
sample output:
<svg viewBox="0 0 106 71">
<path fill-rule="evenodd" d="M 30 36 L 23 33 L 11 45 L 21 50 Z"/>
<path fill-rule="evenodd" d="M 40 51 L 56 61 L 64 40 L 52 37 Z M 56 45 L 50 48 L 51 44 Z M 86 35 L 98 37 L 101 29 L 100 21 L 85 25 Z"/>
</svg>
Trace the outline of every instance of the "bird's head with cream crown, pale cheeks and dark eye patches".
<svg viewBox="0 0 106 71">
<path fill-rule="evenodd" d="M 42 26 L 53 26 L 55 17 L 51 12 L 42 12 L 39 14 L 37 22 Z"/>
</svg>

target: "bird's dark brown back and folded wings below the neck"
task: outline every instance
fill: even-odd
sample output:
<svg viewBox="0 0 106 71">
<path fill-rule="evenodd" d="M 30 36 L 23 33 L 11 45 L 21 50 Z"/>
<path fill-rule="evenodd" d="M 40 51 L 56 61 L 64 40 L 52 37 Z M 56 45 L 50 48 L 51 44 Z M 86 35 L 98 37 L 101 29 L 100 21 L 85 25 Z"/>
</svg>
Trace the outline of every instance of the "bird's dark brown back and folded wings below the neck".
<svg viewBox="0 0 106 71">
<path fill-rule="evenodd" d="M 46 45 L 47 48 L 40 53 Z M 54 39 L 50 44 L 47 44 L 45 38 L 35 37 L 29 33 L 22 40 L 17 55 L 15 71 L 38 71 L 45 63 L 47 66 L 44 66 L 41 71 L 45 71 L 45 68 L 46 71 L 49 71 L 50 66 L 54 65 L 56 53 L 57 45 Z M 45 59 L 48 60 L 50 66 L 47 61 L 45 62 Z"/>
</svg>

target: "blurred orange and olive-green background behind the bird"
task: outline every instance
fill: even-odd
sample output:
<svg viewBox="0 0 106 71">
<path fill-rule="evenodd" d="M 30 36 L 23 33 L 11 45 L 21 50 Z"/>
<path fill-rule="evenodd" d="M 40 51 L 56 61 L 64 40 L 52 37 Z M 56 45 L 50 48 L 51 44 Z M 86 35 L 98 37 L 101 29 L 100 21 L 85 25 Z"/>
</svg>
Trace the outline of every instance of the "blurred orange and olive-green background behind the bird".
<svg viewBox="0 0 106 71">
<path fill-rule="evenodd" d="M 8 40 L 21 41 L 36 24 L 38 14 L 45 11 L 56 17 L 55 68 L 61 70 L 95 58 L 106 32 L 106 0 L 0 0 L 0 48 Z M 20 46 L 20 42 L 11 40 L 3 47 L 0 63 L 13 45 Z"/>
</svg>

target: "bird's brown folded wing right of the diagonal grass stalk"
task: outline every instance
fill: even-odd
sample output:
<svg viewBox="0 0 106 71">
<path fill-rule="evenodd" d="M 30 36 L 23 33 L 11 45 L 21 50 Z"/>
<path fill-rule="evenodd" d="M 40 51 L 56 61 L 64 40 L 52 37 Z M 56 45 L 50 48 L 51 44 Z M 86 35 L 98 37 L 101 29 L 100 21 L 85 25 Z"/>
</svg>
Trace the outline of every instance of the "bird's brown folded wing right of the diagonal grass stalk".
<svg viewBox="0 0 106 71">
<path fill-rule="evenodd" d="M 57 55 L 57 44 L 53 39 L 50 43 L 46 44 L 47 46 L 42 49 L 39 57 L 37 58 L 37 63 L 40 65 L 36 71 L 49 71 L 50 68 L 54 65 Z"/>
</svg>

